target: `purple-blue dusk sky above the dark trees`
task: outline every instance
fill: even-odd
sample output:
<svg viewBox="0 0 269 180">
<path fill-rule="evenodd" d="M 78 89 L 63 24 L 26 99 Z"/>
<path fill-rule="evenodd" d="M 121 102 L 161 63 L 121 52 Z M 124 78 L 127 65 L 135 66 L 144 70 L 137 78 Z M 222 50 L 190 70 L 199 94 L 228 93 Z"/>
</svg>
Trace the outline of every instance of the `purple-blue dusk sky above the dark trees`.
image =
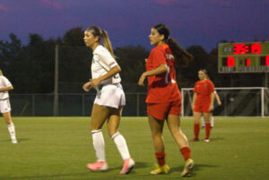
<svg viewBox="0 0 269 180">
<path fill-rule="evenodd" d="M 113 47 L 151 48 L 148 35 L 160 22 L 183 47 L 269 41 L 269 0 L 0 0 L 0 40 L 13 32 L 24 45 L 30 33 L 56 39 L 98 25 Z"/>
</svg>

